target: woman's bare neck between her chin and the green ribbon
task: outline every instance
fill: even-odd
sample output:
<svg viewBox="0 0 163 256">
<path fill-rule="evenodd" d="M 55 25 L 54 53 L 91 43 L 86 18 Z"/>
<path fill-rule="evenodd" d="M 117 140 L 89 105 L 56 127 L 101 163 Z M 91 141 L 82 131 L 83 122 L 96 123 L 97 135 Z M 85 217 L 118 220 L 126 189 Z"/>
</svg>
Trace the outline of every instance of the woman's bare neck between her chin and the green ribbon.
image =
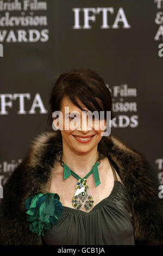
<svg viewBox="0 0 163 256">
<path fill-rule="evenodd" d="M 97 147 L 86 153 L 77 153 L 63 147 L 61 161 L 64 161 L 74 173 L 83 178 L 90 172 L 98 157 Z"/>
</svg>

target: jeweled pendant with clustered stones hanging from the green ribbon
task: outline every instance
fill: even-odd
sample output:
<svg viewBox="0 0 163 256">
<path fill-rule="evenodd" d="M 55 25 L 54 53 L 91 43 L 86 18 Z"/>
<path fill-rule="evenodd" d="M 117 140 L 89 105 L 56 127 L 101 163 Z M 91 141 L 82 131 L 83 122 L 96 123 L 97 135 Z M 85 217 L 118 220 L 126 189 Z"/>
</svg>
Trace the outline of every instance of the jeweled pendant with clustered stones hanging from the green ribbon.
<svg viewBox="0 0 163 256">
<path fill-rule="evenodd" d="M 89 211 L 89 209 L 92 208 L 94 201 L 86 179 L 79 179 L 76 189 L 77 191 L 72 198 L 73 207 L 78 210 L 80 210 L 80 208 L 85 208 L 87 211 Z"/>
</svg>

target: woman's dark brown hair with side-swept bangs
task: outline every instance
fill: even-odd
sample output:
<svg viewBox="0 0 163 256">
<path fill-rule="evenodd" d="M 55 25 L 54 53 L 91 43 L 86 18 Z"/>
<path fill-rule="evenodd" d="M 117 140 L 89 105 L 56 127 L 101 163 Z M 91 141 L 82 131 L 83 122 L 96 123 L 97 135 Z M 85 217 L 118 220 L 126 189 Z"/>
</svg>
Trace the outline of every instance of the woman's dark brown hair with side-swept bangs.
<svg viewBox="0 0 163 256">
<path fill-rule="evenodd" d="M 54 131 L 52 129 L 52 113 L 54 111 L 60 111 L 61 102 L 64 97 L 67 97 L 68 100 L 82 109 L 82 111 L 85 111 L 85 109 L 79 105 L 77 99 L 91 112 L 104 111 L 106 118 L 106 111 L 111 111 L 111 119 L 115 117 L 112 110 L 111 92 L 108 87 L 106 87 L 103 78 L 90 69 L 76 69 L 60 75 L 53 83 L 53 89 L 49 99 L 50 109 L 47 120 L 47 124 L 51 125 L 51 131 Z M 59 130 L 54 132 L 59 133 L 61 136 Z M 105 141 L 104 137 L 98 145 L 101 144 L 102 146 Z"/>
</svg>

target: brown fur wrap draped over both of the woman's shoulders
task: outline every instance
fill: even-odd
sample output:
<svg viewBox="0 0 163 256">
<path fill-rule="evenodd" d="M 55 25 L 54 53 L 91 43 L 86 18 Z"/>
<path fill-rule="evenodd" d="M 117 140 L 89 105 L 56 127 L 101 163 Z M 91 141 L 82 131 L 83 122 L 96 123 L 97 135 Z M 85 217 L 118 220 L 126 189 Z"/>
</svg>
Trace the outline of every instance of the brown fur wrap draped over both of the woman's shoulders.
<svg viewBox="0 0 163 256">
<path fill-rule="evenodd" d="M 162 202 L 159 182 L 147 159 L 114 136 L 106 138 L 108 158 L 131 199 L 136 245 L 163 243 Z M 51 170 L 59 160 L 62 142 L 55 132 L 37 136 L 27 157 L 4 186 L 0 210 L 2 245 L 42 245 L 40 236 L 29 230 L 23 202 L 36 193 L 49 192 Z"/>
</svg>

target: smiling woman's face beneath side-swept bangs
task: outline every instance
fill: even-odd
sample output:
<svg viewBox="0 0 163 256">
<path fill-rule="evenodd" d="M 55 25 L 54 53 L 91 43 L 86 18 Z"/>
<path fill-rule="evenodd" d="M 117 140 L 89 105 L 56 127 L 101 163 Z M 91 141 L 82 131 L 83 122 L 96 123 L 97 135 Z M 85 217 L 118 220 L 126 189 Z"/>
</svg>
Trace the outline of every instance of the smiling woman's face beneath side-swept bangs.
<svg viewBox="0 0 163 256">
<path fill-rule="evenodd" d="M 80 102 L 79 100 L 78 100 L 78 103 L 86 111 L 89 111 L 89 109 L 86 109 L 86 107 L 83 106 L 82 102 Z M 68 109 L 67 110 L 65 107 L 68 107 L 69 109 L 67 108 Z M 101 141 L 101 139 L 102 139 L 101 132 L 103 132 L 105 129 L 104 126 L 106 126 L 106 121 L 100 120 L 99 118 L 94 119 L 92 116 L 92 122 L 89 123 L 88 119 L 90 117 L 87 117 L 86 112 L 82 111 L 82 109 L 78 108 L 72 102 L 68 101 L 68 99 L 66 97 L 64 97 L 64 99 L 62 100 L 62 106 L 61 106 L 60 111 L 61 111 L 62 117 L 63 117 L 62 118 L 62 127 L 60 127 L 63 147 L 65 144 L 66 147 L 68 147 L 70 150 L 73 150 L 74 152 L 76 152 L 78 154 L 87 153 L 87 152 L 91 151 L 92 149 L 95 149 L 97 147 L 97 144 L 99 143 L 99 141 Z M 76 120 L 79 121 L 79 119 L 80 119 L 80 124 L 77 121 L 75 121 L 71 112 L 73 112 L 74 114 L 75 113 L 77 114 Z M 83 117 L 85 117 L 85 118 L 82 118 L 82 112 L 84 114 Z M 65 114 L 66 114 L 66 116 L 65 116 Z M 56 120 L 56 118 L 53 118 L 53 124 L 54 124 L 54 120 Z M 85 125 L 85 127 L 83 127 L 83 128 L 82 128 L 82 121 L 83 121 L 83 125 Z M 65 129 L 66 123 L 69 124 L 68 130 Z M 99 126 L 98 130 L 96 130 L 98 127 L 98 126 L 96 126 L 97 123 Z M 56 124 L 55 124 L 55 127 L 56 127 Z M 101 127 L 102 127 L 102 129 L 101 129 Z M 90 138 L 89 139 L 85 138 L 84 140 L 82 140 L 82 138 L 76 138 L 75 136 L 83 137 L 83 138 L 89 136 Z"/>
</svg>

